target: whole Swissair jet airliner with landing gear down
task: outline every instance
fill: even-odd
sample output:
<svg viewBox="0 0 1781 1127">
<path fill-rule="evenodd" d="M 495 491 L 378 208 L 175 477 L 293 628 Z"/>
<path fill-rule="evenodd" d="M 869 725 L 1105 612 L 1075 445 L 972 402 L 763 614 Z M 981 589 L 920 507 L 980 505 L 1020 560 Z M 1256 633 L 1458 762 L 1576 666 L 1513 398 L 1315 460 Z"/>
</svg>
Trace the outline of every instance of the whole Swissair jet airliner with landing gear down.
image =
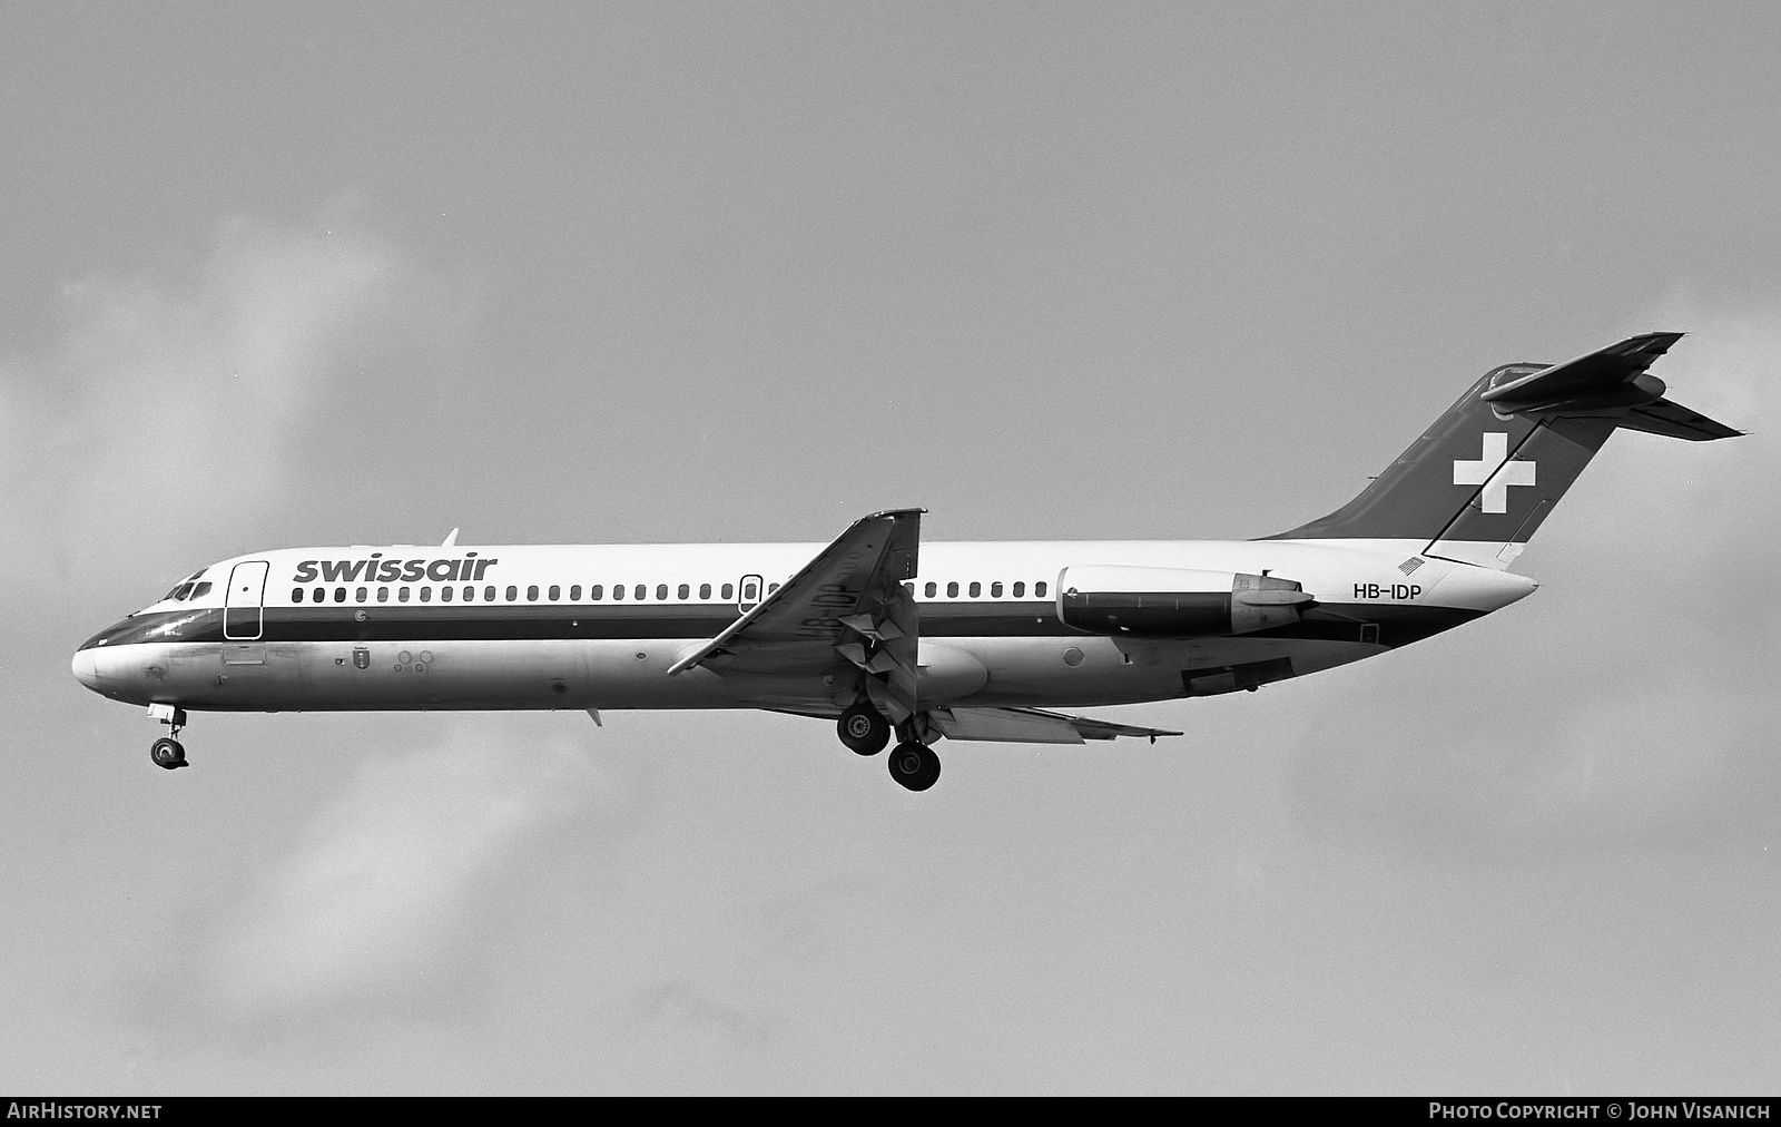
<svg viewBox="0 0 1781 1127">
<path fill-rule="evenodd" d="M 203 567 L 73 674 L 189 712 L 760 708 L 834 720 L 926 790 L 933 744 L 1181 731 L 1074 708 L 1208 697 L 1419 642 L 1532 594 L 1509 571 L 1615 430 L 1740 432 L 1647 369 L 1681 333 L 1485 373 L 1352 501 L 1254 540 L 921 542 L 921 508 L 832 544 L 303 547 Z"/>
</svg>

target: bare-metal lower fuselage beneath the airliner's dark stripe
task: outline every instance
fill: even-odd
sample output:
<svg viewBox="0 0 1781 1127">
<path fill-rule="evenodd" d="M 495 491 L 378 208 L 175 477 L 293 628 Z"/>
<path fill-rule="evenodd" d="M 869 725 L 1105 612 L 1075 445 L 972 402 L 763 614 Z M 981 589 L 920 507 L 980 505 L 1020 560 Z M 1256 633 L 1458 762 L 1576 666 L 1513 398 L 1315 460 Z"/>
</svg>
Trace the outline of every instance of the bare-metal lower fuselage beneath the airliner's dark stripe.
<svg viewBox="0 0 1781 1127">
<path fill-rule="evenodd" d="M 696 638 L 196 642 L 107 654 L 107 695 L 217 712 L 785 708 L 851 703 L 846 676 L 668 676 Z M 947 638 L 923 704 L 1092 706 L 1211 695 L 1316 672 L 1378 646 L 1304 638 Z M 960 654 L 976 669 L 960 676 Z"/>
</svg>

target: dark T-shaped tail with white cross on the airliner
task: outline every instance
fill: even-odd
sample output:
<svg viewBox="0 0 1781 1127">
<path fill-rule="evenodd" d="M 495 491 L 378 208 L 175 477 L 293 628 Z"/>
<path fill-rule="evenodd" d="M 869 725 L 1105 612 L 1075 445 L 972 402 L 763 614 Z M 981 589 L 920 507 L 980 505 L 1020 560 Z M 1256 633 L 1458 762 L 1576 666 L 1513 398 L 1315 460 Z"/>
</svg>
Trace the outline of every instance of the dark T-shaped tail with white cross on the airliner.
<svg viewBox="0 0 1781 1127">
<path fill-rule="evenodd" d="M 1615 428 L 1704 442 L 1742 432 L 1663 398 L 1646 369 L 1681 333 L 1567 364 L 1505 364 L 1473 383 L 1366 490 L 1270 540 L 1421 540 L 1423 555 L 1509 567 Z"/>
</svg>

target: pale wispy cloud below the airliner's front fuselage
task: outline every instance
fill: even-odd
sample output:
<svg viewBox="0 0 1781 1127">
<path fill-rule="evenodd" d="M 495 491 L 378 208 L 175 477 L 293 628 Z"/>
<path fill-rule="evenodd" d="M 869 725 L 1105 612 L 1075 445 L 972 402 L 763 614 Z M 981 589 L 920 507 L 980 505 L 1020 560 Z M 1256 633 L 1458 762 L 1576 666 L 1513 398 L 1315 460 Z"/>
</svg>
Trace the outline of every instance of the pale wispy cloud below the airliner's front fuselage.
<svg viewBox="0 0 1781 1127">
<path fill-rule="evenodd" d="M 584 884 L 590 845 L 632 806 L 568 738 L 524 745 L 470 722 L 374 754 L 280 861 L 205 911 L 192 965 L 150 993 L 246 1031 L 459 1013 L 516 920 Z"/>
</svg>

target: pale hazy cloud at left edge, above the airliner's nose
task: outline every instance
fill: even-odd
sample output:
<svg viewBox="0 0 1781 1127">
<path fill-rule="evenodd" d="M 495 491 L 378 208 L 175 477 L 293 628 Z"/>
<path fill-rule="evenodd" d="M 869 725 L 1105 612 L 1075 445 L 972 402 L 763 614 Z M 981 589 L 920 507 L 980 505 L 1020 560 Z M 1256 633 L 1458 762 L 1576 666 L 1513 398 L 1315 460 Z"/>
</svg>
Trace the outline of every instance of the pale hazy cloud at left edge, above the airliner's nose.
<svg viewBox="0 0 1781 1127">
<path fill-rule="evenodd" d="M 429 339 L 443 303 L 436 278 L 346 214 L 230 219 L 185 267 L 68 285 L 53 339 L 0 358 L 0 547 L 16 581 L 176 578 L 189 546 L 169 530 L 276 505 L 329 382 L 390 341 Z"/>
</svg>

